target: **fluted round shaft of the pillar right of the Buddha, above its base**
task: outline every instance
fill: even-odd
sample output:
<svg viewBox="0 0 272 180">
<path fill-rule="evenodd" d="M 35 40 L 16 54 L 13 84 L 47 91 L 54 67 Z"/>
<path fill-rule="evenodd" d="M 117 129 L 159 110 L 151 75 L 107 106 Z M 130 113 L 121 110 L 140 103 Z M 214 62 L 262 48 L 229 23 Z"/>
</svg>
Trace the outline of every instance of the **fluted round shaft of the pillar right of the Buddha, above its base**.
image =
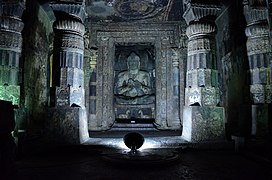
<svg viewBox="0 0 272 180">
<path fill-rule="evenodd" d="M 187 28 L 186 106 L 216 106 L 219 103 L 215 28 L 214 24 L 202 22 Z"/>
</svg>

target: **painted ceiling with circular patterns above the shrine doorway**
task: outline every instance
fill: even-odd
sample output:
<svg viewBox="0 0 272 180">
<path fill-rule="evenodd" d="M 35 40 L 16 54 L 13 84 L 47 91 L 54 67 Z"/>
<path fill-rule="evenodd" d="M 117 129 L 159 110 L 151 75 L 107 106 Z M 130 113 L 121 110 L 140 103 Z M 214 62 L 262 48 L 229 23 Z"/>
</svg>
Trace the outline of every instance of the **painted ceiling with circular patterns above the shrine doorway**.
<svg viewBox="0 0 272 180">
<path fill-rule="evenodd" d="M 86 0 L 90 21 L 178 21 L 182 0 Z"/>
</svg>

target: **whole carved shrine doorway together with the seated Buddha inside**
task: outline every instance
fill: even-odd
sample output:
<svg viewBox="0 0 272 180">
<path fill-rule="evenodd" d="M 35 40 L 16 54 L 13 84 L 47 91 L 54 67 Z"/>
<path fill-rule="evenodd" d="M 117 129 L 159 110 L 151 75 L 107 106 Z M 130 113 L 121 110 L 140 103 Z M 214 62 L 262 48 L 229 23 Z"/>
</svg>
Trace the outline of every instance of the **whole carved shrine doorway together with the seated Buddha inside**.
<svg viewBox="0 0 272 180">
<path fill-rule="evenodd" d="M 97 23 L 89 28 L 90 45 L 97 49 L 88 80 L 89 130 L 108 130 L 119 120 L 148 120 L 158 129 L 181 130 L 185 57 L 176 38 L 180 24 Z"/>
</svg>

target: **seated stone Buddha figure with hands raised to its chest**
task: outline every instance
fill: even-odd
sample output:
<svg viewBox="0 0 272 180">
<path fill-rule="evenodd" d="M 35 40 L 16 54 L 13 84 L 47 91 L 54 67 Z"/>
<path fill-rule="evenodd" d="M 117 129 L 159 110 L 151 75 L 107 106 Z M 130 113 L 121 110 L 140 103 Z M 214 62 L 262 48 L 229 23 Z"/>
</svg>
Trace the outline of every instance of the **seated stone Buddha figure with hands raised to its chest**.
<svg viewBox="0 0 272 180">
<path fill-rule="evenodd" d="M 128 70 L 117 75 L 116 102 L 119 104 L 150 104 L 155 100 L 148 72 L 140 70 L 140 57 L 132 52 L 127 58 Z"/>
</svg>

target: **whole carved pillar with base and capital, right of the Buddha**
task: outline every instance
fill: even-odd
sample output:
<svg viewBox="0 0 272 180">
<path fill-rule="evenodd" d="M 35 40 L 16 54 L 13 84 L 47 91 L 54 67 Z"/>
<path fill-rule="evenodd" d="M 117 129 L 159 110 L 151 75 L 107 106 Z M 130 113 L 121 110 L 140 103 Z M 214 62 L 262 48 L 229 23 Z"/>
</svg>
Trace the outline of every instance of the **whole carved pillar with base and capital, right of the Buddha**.
<svg viewBox="0 0 272 180">
<path fill-rule="evenodd" d="M 224 138 L 224 108 L 219 103 L 215 17 L 220 8 L 189 4 L 188 56 L 182 136 L 198 142 Z M 207 16 L 213 18 L 207 18 Z"/>
</svg>

